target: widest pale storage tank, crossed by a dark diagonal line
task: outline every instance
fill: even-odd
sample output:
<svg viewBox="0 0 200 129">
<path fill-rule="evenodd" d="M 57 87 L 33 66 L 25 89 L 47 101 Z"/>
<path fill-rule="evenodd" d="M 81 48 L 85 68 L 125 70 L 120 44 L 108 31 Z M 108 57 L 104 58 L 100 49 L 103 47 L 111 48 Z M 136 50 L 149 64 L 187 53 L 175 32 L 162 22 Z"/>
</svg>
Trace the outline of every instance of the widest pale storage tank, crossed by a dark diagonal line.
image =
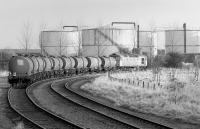
<svg viewBox="0 0 200 129">
<path fill-rule="evenodd" d="M 83 56 L 109 56 L 136 47 L 136 28 L 106 26 L 82 30 Z"/>
</svg>

